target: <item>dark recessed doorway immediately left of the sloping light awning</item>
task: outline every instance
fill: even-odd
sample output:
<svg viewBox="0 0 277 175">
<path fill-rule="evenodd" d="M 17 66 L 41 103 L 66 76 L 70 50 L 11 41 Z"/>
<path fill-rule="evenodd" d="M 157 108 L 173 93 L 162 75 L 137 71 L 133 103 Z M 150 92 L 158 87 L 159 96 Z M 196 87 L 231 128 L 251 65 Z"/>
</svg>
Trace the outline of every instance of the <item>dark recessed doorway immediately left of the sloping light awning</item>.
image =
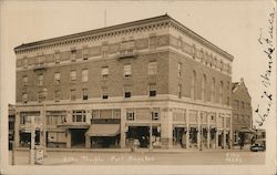
<svg viewBox="0 0 277 175">
<path fill-rule="evenodd" d="M 72 128 L 71 130 L 71 146 L 84 147 L 86 128 Z"/>
</svg>

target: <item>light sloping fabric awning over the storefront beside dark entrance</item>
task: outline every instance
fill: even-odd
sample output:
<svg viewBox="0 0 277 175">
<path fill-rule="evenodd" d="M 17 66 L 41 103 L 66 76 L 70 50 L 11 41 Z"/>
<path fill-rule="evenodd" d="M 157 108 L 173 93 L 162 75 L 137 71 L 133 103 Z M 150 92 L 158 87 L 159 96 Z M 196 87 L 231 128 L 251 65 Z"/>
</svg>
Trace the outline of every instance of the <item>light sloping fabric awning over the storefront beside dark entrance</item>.
<svg viewBox="0 0 277 175">
<path fill-rule="evenodd" d="M 85 135 L 115 136 L 120 133 L 120 124 L 92 124 Z"/>
</svg>

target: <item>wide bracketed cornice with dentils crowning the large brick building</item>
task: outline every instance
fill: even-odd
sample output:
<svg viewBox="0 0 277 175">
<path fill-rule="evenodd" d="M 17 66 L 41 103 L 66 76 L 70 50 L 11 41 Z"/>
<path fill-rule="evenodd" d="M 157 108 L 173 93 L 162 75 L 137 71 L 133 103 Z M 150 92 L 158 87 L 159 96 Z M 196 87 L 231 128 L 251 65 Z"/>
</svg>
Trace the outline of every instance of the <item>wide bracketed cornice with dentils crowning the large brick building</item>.
<svg viewBox="0 0 277 175">
<path fill-rule="evenodd" d="M 212 49 L 213 51 L 216 51 L 218 54 L 223 55 L 227 60 L 233 61 L 234 59 L 233 55 L 222 50 L 220 48 L 216 47 L 212 42 L 207 41 L 203 37 L 198 35 L 197 33 L 186 28 L 185 25 L 183 25 L 182 23 L 174 20 L 167 14 L 148 18 L 144 20 L 138 20 L 138 21 L 133 21 L 133 22 L 127 22 L 127 23 L 122 23 L 117 25 L 90 30 L 85 32 L 58 37 L 53 39 L 47 39 L 47 40 L 41 40 L 37 42 L 25 43 L 25 44 L 21 44 L 14 48 L 14 52 L 25 53 L 25 52 L 32 52 L 32 51 L 38 51 L 42 49 L 61 47 L 61 45 L 70 45 L 70 44 L 80 43 L 80 42 L 99 41 L 104 38 L 116 37 L 116 35 L 127 34 L 132 32 L 141 32 L 144 30 L 154 30 L 154 29 L 164 28 L 168 25 L 195 39 L 203 45 Z"/>
</svg>

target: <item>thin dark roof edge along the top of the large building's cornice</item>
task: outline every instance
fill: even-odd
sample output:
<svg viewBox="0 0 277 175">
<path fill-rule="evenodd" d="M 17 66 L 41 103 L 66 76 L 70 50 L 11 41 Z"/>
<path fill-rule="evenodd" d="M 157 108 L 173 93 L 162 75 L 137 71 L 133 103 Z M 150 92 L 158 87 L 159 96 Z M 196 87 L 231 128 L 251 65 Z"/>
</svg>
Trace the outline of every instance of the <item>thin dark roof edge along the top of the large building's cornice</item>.
<svg viewBox="0 0 277 175">
<path fill-rule="evenodd" d="M 125 22 L 125 23 L 121 23 L 121 24 L 115 24 L 115 25 L 111 25 L 111 27 L 89 30 L 89 31 L 84 31 L 84 32 L 66 34 L 66 35 L 57 37 L 57 38 L 52 38 L 52 39 L 40 40 L 40 41 L 35 41 L 35 42 L 23 43 L 21 45 L 16 47 L 13 50 L 14 50 L 14 52 L 17 52 L 18 50 L 24 50 L 24 49 L 28 49 L 28 48 L 34 47 L 34 45 L 41 45 L 41 44 L 45 44 L 45 43 L 53 43 L 53 42 L 57 42 L 57 41 L 68 40 L 68 39 L 79 38 L 79 37 L 85 37 L 85 35 L 89 35 L 89 34 L 96 34 L 96 33 L 106 32 L 106 31 L 110 31 L 110 30 L 122 29 L 123 27 L 124 28 L 133 27 L 134 24 L 145 24 L 148 21 L 155 22 L 155 21 L 158 21 L 158 20 L 168 20 L 168 21 L 173 21 L 173 22 L 177 23 L 178 25 L 184 28 L 186 31 L 188 31 L 189 32 L 188 34 L 191 37 L 195 37 L 195 39 L 197 39 L 198 41 L 204 42 L 204 44 L 206 44 L 207 47 L 209 47 L 209 48 L 216 50 L 217 52 L 219 52 L 220 54 L 227 56 L 230 61 L 234 60 L 234 56 L 232 54 L 227 53 L 226 51 L 224 51 L 219 47 L 213 44 L 212 42 L 209 42 L 205 38 L 201 37 L 197 33 L 195 33 L 193 30 L 188 29 L 187 27 L 185 27 L 181 22 L 176 21 L 175 19 L 170 17 L 167 13 L 163 14 L 163 16 L 157 16 L 157 17 L 142 19 L 142 20 L 132 21 L 132 22 Z"/>
</svg>

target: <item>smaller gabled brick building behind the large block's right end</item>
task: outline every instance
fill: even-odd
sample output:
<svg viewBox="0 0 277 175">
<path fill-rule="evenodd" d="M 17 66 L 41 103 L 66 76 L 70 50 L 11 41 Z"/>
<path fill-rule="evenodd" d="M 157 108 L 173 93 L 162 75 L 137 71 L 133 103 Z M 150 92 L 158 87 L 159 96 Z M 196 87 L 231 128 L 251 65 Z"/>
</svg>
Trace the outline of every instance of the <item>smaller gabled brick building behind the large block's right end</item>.
<svg viewBox="0 0 277 175">
<path fill-rule="evenodd" d="M 253 137 L 253 116 L 252 116 L 252 97 L 244 83 L 232 83 L 232 107 L 233 107 L 233 143 L 250 143 Z"/>
</svg>

